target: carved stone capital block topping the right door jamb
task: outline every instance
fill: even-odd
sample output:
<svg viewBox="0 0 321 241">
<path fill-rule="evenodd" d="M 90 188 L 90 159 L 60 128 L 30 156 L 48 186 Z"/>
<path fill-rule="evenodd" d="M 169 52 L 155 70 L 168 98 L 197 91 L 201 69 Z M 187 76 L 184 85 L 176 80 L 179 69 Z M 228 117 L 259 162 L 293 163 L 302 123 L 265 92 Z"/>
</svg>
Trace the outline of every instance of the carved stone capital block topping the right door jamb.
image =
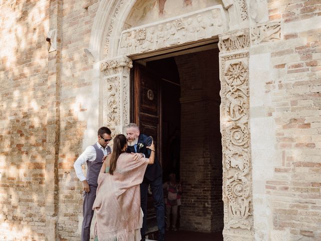
<svg viewBox="0 0 321 241">
<path fill-rule="evenodd" d="M 247 49 L 250 47 L 249 30 L 235 30 L 219 35 L 218 47 L 221 53 Z"/>
</svg>

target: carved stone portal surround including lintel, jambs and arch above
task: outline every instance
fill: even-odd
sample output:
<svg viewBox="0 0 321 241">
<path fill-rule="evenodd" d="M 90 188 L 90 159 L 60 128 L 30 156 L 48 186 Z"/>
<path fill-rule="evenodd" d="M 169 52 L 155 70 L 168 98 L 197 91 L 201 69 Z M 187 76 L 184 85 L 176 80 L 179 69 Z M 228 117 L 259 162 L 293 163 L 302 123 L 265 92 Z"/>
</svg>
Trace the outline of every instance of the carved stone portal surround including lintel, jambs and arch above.
<svg viewBox="0 0 321 241">
<path fill-rule="evenodd" d="M 139 1 L 102 1 L 96 18 L 102 22 L 96 29 L 89 54 L 99 60 L 101 70 L 103 124 L 122 132 L 130 121 L 130 68 L 136 56 L 150 57 L 187 49 L 213 42 L 220 37 L 220 81 L 221 106 L 220 129 L 223 148 L 223 201 L 224 240 L 253 239 L 252 177 L 249 120 L 248 48 L 249 30 L 227 30 L 235 26 L 246 26 L 247 8 L 245 1 L 212 6 L 169 19 L 124 30 L 124 24 L 135 4 Z M 215 11 L 214 11 L 215 10 Z M 104 11 L 104 12 L 102 12 Z M 216 14 L 214 14 L 216 12 Z M 105 16 L 111 16 L 108 20 Z M 199 17 L 201 16 L 201 17 Z M 208 25 L 204 31 L 193 32 L 188 26 L 201 26 L 202 19 L 221 17 L 221 26 Z M 104 20 L 105 19 L 105 20 Z M 197 23 L 190 23 L 194 19 Z M 239 22 L 238 22 L 239 21 Z M 215 23 L 218 23 L 216 21 Z M 236 24 L 237 23 L 237 24 Z M 106 26 L 103 26 L 106 24 Z M 162 27 L 159 27 L 162 26 Z M 166 30 L 164 27 L 166 26 Z M 212 27 L 213 26 L 213 27 Z M 152 41 L 158 29 L 157 42 Z M 191 28 L 193 29 L 193 28 Z M 183 34 L 183 32 L 185 34 Z M 201 33 L 199 33 L 201 32 Z M 148 37 L 149 36 L 149 37 Z M 151 36 L 151 37 L 150 37 Z M 162 39 L 164 38 L 164 40 Z"/>
</svg>

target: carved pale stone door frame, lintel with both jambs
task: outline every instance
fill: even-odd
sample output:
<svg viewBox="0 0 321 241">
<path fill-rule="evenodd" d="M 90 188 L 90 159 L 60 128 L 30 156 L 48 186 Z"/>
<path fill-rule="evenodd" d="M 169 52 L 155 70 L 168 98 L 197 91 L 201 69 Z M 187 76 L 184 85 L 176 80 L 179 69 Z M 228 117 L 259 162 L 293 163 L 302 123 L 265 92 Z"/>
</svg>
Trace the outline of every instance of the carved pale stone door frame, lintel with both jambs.
<svg viewBox="0 0 321 241">
<path fill-rule="evenodd" d="M 231 8 L 232 0 L 223 1 Z M 240 3 L 243 3 L 240 5 Z M 113 16 L 117 16 L 120 1 Z M 234 2 L 235 3 L 235 2 Z M 237 1 L 247 20 L 245 1 Z M 245 18 L 245 17 L 246 18 Z M 230 20 L 231 22 L 231 20 Z M 114 21 L 111 21 L 114 23 Z M 177 18 L 135 27 L 121 33 L 118 56 L 100 63 L 104 125 L 113 135 L 129 123 L 129 72 L 133 54 L 151 52 L 219 35 L 221 133 L 223 147 L 224 240 L 253 240 L 252 175 L 249 130 L 249 29 L 228 29 L 223 7 L 213 6 Z M 272 27 L 273 29 L 275 27 Z M 111 36 L 113 26 L 109 26 Z M 274 30 L 273 30 L 274 31 Z M 253 31 L 254 32 L 254 31 Z M 274 33 L 274 32 L 273 32 Z M 108 53 L 106 41 L 104 53 Z M 150 96 L 152 96 L 150 94 Z"/>
</svg>

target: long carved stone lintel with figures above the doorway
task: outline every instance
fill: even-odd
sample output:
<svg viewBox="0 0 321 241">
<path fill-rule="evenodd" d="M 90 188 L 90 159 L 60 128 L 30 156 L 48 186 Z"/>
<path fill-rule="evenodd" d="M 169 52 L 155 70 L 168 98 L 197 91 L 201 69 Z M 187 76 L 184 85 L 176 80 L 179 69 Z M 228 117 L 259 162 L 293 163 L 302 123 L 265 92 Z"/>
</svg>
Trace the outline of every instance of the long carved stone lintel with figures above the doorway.
<svg viewBox="0 0 321 241">
<path fill-rule="evenodd" d="M 122 32 L 118 54 L 133 55 L 211 38 L 228 29 L 221 5 Z"/>
</svg>

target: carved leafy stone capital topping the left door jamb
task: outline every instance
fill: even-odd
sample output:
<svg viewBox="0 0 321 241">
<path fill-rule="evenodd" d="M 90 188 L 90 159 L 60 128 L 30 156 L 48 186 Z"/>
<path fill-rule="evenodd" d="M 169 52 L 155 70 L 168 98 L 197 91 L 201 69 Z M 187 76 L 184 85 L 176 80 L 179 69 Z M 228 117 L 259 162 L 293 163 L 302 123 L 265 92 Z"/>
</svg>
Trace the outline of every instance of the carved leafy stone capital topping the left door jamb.
<svg viewBox="0 0 321 241">
<path fill-rule="evenodd" d="M 100 70 L 106 76 L 118 74 L 122 70 L 129 74 L 130 68 L 132 68 L 132 60 L 126 56 L 107 60 L 100 64 Z"/>
</svg>

